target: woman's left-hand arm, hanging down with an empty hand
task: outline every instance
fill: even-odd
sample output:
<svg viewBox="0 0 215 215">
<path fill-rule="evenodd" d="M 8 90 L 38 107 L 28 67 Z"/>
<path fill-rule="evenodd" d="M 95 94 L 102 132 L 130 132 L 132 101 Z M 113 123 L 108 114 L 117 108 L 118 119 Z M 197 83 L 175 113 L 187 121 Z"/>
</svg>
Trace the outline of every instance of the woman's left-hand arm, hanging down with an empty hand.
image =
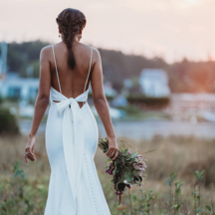
<svg viewBox="0 0 215 215">
<path fill-rule="evenodd" d="M 50 47 L 44 47 L 40 52 L 40 82 L 35 102 L 34 116 L 29 132 L 28 142 L 25 147 L 25 161 L 28 159 L 36 161 L 34 155 L 34 146 L 36 144 L 36 133 L 42 121 L 42 118 L 49 105 L 49 95 L 51 87 L 51 72 L 50 72 Z M 26 154 L 27 152 L 27 154 Z"/>
</svg>

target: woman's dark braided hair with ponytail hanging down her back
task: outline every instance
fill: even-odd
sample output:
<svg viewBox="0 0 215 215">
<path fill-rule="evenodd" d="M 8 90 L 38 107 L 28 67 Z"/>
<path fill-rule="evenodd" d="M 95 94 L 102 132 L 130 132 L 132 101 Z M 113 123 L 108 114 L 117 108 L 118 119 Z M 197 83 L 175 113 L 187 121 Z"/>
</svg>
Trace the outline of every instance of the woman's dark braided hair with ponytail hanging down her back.
<svg viewBox="0 0 215 215">
<path fill-rule="evenodd" d="M 69 49 L 68 63 L 71 69 L 75 67 L 75 56 L 72 50 L 72 43 L 75 34 L 82 32 L 83 28 L 86 25 L 85 15 L 73 8 L 64 9 L 56 18 L 56 21 L 60 27 L 61 32 L 63 33 L 63 41 L 66 43 Z"/>
</svg>

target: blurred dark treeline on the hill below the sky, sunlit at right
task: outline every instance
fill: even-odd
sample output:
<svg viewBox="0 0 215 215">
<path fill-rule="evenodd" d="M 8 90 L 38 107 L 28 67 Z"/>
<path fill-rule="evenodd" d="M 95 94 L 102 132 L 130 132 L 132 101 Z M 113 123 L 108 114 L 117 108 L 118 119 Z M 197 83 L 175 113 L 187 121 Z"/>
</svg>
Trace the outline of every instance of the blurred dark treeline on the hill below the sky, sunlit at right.
<svg viewBox="0 0 215 215">
<path fill-rule="evenodd" d="M 39 54 L 46 45 L 50 44 L 40 40 L 8 44 L 9 71 L 18 72 L 22 77 L 26 77 L 26 69 L 31 65 L 34 68 L 33 77 L 38 77 Z M 180 62 L 168 64 L 160 57 L 149 59 L 124 54 L 121 51 L 102 48 L 98 50 L 102 57 L 104 79 L 110 81 L 117 91 L 122 90 L 126 78 L 133 81 L 132 91 L 140 90 L 138 78 L 141 70 L 160 68 L 167 72 L 172 92 L 215 92 L 215 61 L 194 62 L 185 58 Z"/>
</svg>

